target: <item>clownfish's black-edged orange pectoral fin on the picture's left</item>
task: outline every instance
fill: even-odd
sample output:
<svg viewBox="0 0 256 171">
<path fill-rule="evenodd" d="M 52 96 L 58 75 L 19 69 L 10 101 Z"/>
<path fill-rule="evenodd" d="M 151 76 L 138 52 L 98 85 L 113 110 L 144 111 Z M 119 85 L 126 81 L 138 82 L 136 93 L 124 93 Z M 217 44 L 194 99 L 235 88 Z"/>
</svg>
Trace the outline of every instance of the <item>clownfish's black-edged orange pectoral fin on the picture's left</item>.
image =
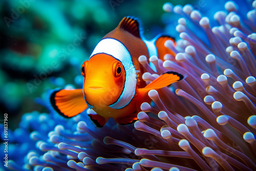
<svg viewBox="0 0 256 171">
<path fill-rule="evenodd" d="M 55 111 L 63 117 L 76 116 L 88 108 L 82 89 L 54 91 L 50 102 Z"/>
</svg>

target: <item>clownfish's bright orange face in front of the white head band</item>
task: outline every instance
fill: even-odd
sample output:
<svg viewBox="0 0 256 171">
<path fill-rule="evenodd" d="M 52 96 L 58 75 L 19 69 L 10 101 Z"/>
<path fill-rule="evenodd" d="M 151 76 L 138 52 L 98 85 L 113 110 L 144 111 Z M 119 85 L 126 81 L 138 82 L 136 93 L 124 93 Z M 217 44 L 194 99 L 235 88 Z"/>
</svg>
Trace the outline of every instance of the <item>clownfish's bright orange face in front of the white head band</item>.
<svg viewBox="0 0 256 171">
<path fill-rule="evenodd" d="M 84 61 L 81 73 L 84 98 L 91 106 L 103 107 L 118 100 L 125 82 L 125 70 L 119 60 L 108 54 L 96 54 Z"/>
</svg>

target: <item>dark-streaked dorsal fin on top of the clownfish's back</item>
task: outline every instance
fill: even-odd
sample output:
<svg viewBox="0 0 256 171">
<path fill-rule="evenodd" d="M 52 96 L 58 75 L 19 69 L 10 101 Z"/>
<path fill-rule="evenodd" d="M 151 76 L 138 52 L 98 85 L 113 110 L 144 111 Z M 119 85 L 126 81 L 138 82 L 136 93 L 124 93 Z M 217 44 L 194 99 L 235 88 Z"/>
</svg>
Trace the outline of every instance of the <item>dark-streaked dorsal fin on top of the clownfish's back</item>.
<svg viewBox="0 0 256 171">
<path fill-rule="evenodd" d="M 119 25 L 117 26 L 117 28 L 123 29 L 139 38 L 140 38 L 140 32 L 142 31 L 139 26 L 138 19 L 133 16 L 124 17 L 119 23 Z"/>
</svg>

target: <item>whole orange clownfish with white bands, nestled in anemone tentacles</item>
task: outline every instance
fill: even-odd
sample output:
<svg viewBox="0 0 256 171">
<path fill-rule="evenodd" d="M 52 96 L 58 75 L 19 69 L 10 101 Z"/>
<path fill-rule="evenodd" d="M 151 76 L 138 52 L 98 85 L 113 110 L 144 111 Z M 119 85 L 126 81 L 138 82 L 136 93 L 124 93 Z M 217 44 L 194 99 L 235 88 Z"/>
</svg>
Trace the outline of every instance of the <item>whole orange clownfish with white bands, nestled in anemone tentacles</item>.
<svg viewBox="0 0 256 171">
<path fill-rule="evenodd" d="M 138 58 L 149 59 L 156 55 L 174 54 L 164 46 L 170 36 L 158 35 L 146 40 L 142 35 L 138 19 L 124 17 L 117 28 L 106 34 L 93 50 L 89 60 L 83 62 L 81 74 L 83 89 L 58 90 L 50 101 L 60 115 L 73 117 L 88 107 L 96 114 L 89 114 L 98 127 L 114 118 L 119 124 L 131 124 L 138 120 L 143 102 L 151 102 L 148 91 L 158 90 L 183 79 L 177 72 L 167 72 L 146 85 L 142 79 L 145 69 Z"/>
</svg>

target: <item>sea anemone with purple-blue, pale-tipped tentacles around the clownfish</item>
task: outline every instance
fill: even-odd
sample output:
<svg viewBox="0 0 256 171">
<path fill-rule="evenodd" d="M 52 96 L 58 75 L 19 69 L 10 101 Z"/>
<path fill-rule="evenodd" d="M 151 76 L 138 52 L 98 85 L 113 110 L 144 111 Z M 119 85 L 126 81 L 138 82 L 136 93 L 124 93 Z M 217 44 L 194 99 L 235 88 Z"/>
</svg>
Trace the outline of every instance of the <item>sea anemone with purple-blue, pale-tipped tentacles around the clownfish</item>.
<svg viewBox="0 0 256 171">
<path fill-rule="evenodd" d="M 256 12 L 246 18 L 238 8 L 228 1 L 214 15 L 219 26 L 211 28 L 193 6 L 164 4 L 166 12 L 182 15 L 181 39 L 165 42 L 176 54 L 165 61 L 139 57 L 143 79 L 149 83 L 167 71 L 186 78 L 150 91 L 153 102 L 142 103 L 133 125 L 110 121 L 96 129 L 91 110 L 69 120 L 53 111 L 24 115 L 13 133 L 21 145 L 13 149 L 30 152 L 22 162 L 9 161 L 8 169 L 256 170 Z M 32 142 L 22 138 L 30 130 Z"/>
</svg>

